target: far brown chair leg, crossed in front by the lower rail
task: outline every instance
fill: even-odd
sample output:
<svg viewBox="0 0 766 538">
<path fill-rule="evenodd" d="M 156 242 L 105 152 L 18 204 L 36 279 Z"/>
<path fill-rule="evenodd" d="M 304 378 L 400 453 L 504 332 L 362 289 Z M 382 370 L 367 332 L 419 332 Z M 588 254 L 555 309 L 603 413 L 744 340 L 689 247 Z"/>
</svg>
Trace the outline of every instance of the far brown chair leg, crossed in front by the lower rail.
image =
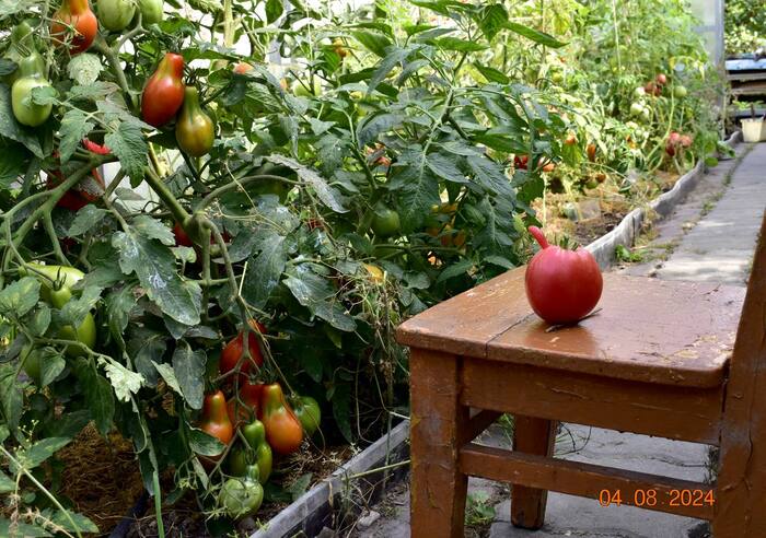
<svg viewBox="0 0 766 538">
<path fill-rule="evenodd" d="M 513 449 L 538 456 L 553 455 L 557 423 L 552 420 L 515 416 Z M 517 527 L 537 529 L 545 523 L 546 490 L 511 487 L 511 522 Z"/>
</svg>

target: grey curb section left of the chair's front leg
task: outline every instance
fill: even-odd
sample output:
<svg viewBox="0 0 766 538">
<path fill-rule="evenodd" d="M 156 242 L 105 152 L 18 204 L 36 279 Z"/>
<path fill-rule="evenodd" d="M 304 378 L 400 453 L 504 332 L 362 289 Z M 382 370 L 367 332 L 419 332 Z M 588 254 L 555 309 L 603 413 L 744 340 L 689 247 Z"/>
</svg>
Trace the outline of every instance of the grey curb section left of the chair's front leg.
<svg viewBox="0 0 766 538">
<path fill-rule="evenodd" d="M 396 464 L 409 455 L 409 421 L 405 420 L 391 430 L 388 435 L 375 441 L 360 454 L 340 466 L 333 475 L 306 491 L 268 525 L 251 535 L 249 538 L 282 538 L 295 535 L 316 536 L 323 527 L 337 525 L 334 510 L 345 504 L 372 504 L 383 492 L 383 471 L 371 472 L 363 479 L 349 483 L 349 477 L 369 472 L 388 463 Z M 401 479 L 406 467 L 393 471 L 393 480 Z M 363 498 L 363 503 L 344 503 L 347 498 Z"/>
</svg>

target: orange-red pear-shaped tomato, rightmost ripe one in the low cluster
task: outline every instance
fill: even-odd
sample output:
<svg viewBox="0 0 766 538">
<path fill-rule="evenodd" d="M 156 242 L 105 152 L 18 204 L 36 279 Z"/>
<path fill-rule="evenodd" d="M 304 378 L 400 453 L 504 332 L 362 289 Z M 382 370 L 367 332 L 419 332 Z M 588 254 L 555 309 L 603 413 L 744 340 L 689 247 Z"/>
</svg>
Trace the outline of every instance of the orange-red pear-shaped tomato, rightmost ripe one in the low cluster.
<svg viewBox="0 0 766 538">
<path fill-rule="evenodd" d="M 266 441 L 274 452 L 288 455 L 298 451 L 303 442 L 303 426 L 285 399 L 279 383 L 264 387 L 260 408 Z"/>
</svg>

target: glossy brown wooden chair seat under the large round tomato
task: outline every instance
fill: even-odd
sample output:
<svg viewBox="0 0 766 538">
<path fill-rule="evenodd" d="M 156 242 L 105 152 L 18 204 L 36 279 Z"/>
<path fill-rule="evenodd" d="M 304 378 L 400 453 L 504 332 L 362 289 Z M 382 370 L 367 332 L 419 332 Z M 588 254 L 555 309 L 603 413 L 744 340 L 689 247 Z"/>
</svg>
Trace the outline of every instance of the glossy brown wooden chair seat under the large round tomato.
<svg viewBox="0 0 766 538">
<path fill-rule="evenodd" d="M 547 331 L 513 269 L 398 328 L 418 349 L 682 387 L 720 386 L 746 289 L 604 274 L 595 315 Z"/>
</svg>

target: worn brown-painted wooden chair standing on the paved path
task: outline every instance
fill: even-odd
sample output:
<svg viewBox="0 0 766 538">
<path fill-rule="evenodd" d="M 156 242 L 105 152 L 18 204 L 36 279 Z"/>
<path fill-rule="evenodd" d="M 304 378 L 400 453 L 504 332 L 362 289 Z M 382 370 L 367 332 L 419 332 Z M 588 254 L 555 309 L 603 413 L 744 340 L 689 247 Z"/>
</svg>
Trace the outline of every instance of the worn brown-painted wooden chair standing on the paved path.
<svg viewBox="0 0 766 538">
<path fill-rule="evenodd" d="M 766 537 L 765 237 L 766 218 L 746 296 L 607 273 L 600 313 L 547 332 L 518 268 L 403 324 L 411 536 L 463 536 L 477 476 L 513 484 L 520 527 L 543 525 L 553 490 L 708 519 L 717 538 Z M 472 443 L 503 412 L 514 451 Z M 557 421 L 720 446 L 718 482 L 555 459 Z"/>
</svg>

